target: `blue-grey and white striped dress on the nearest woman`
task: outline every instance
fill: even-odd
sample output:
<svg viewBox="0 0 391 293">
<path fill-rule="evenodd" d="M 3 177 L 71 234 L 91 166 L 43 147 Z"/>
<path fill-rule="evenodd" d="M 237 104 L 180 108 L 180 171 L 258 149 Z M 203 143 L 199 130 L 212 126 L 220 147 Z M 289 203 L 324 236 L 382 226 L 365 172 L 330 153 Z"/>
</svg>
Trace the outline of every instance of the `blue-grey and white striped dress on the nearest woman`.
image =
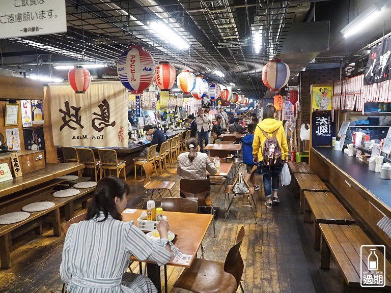
<svg viewBox="0 0 391 293">
<path fill-rule="evenodd" d="M 121 222 L 110 215 L 72 224 L 67 232 L 60 266 L 68 293 L 157 292 L 144 276 L 125 273 L 133 254 L 139 260 L 167 263 L 172 255 L 167 240 L 152 241 L 133 222 Z"/>
</svg>

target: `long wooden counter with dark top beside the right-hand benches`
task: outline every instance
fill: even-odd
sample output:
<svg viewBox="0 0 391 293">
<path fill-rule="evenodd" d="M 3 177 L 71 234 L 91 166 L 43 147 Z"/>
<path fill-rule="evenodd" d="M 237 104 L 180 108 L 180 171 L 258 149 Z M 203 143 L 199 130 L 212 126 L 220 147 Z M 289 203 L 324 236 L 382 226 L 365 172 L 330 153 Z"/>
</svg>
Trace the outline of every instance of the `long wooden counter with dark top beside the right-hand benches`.
<svg viewBox="0 0 391 293">
<path fill-rule="evenodd" d="M 373 233 L 374 243 L 391 252 L 391 239 L 377 226 L 384 216 L 391 218 L 391 180 L 380 179 L 380 173 L 355 156 L 330 147 L 311 148 L 310 167 Z"/>
</svg>

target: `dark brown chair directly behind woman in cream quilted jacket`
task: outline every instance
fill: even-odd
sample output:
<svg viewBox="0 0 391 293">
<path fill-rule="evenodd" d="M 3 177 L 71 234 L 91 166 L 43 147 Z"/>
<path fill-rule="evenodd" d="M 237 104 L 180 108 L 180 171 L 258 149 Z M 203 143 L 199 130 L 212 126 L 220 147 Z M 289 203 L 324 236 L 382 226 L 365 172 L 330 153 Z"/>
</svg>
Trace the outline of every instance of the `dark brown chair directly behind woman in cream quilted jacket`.
<svg viewBox="0 0 391 293">
<path fill-rule="evenodd" d="M 213 215 L 213 237 L 216 237 L 214 227 L 214 209 L 210 199 L 210 180 L 209 179 L 181 179 L 179 192 L 181 196 L 195 199 L 199 208 L 208 208 Z"/>
</svg>

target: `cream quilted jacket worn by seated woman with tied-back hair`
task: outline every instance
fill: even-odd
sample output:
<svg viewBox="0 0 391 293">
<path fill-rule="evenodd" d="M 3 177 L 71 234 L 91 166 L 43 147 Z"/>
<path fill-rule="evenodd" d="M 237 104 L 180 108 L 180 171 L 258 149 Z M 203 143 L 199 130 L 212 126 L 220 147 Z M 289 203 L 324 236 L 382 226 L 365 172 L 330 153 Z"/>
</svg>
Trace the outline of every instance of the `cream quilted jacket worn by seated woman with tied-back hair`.
<svg viewBox="0 0 391 293">
<path fill-rule="evenodd" d="M 177 173 L 183 179 L 205 179 L 206 170 L 211 175 L 217 172 L 207 154 L 197 152 L 197 157 L 192 162 L 189 159 L 189 152 L 179 155 Z"/>
</svg>

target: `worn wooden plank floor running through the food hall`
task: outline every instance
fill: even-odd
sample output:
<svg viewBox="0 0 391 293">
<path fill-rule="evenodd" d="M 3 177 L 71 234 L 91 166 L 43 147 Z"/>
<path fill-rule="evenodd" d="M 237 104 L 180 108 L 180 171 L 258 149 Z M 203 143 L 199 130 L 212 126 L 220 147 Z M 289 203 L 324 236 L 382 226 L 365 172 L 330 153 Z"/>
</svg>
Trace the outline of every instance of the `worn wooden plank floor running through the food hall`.
<svg viewBox="0 0 391 293">
<path fill-rule="evenodd" d="M 179 196 L 180 178 L 177 175 L 166 172 L 154 179 L 175 181 L 173 195 Z M 142 207 L 145 194 L 143 180 L 144 177 L 141 178 L 138 173 L 136 181 L 128 182 L 133 192 L 128 198 L 128 208 Z M 244 225 L 246 236 L 240 251 L 245 266 L 242 279 L 246 293 L 341 292 L 341 276 L 333 261 L 330 271 L 319 269 L 319 253 L 313 250 L 312 243 L 313 226 L 303 224 L 302 216 L 298 214 L 298 202 L 289 188 L 280 189 L 281 203 L 272 209 L 265 207 L 262 188 L 256 191 L 258 224 L 255 224 L 250 208 L 241 207 L 240 197 L 235 199 L 232 213 L 223 222 L 223 190 L 222 186 L 212 186 L 212 201 L 215 207 L 221 209 L 216 220 L 216 238 L 213 238 L 211 225 L 203 241 L 206 259 L 224 262 L 239 228 Z M 168 196 L 164 192 L 162 195 Z M 12 267 L 0 270 L 0 292 L 61 291 L 59 268 L 64 236 L 53 237 L 49 227 L 44 231 L 43 236 L 35 236 L 32 231 L 18 239 L 11 252 Z M 138 273 L 137 263 L 132 269 Z M 169 292 L 184 291 L 173 288 L 181 271 L 180 268 L 168 267 Z"/>
</svg>

